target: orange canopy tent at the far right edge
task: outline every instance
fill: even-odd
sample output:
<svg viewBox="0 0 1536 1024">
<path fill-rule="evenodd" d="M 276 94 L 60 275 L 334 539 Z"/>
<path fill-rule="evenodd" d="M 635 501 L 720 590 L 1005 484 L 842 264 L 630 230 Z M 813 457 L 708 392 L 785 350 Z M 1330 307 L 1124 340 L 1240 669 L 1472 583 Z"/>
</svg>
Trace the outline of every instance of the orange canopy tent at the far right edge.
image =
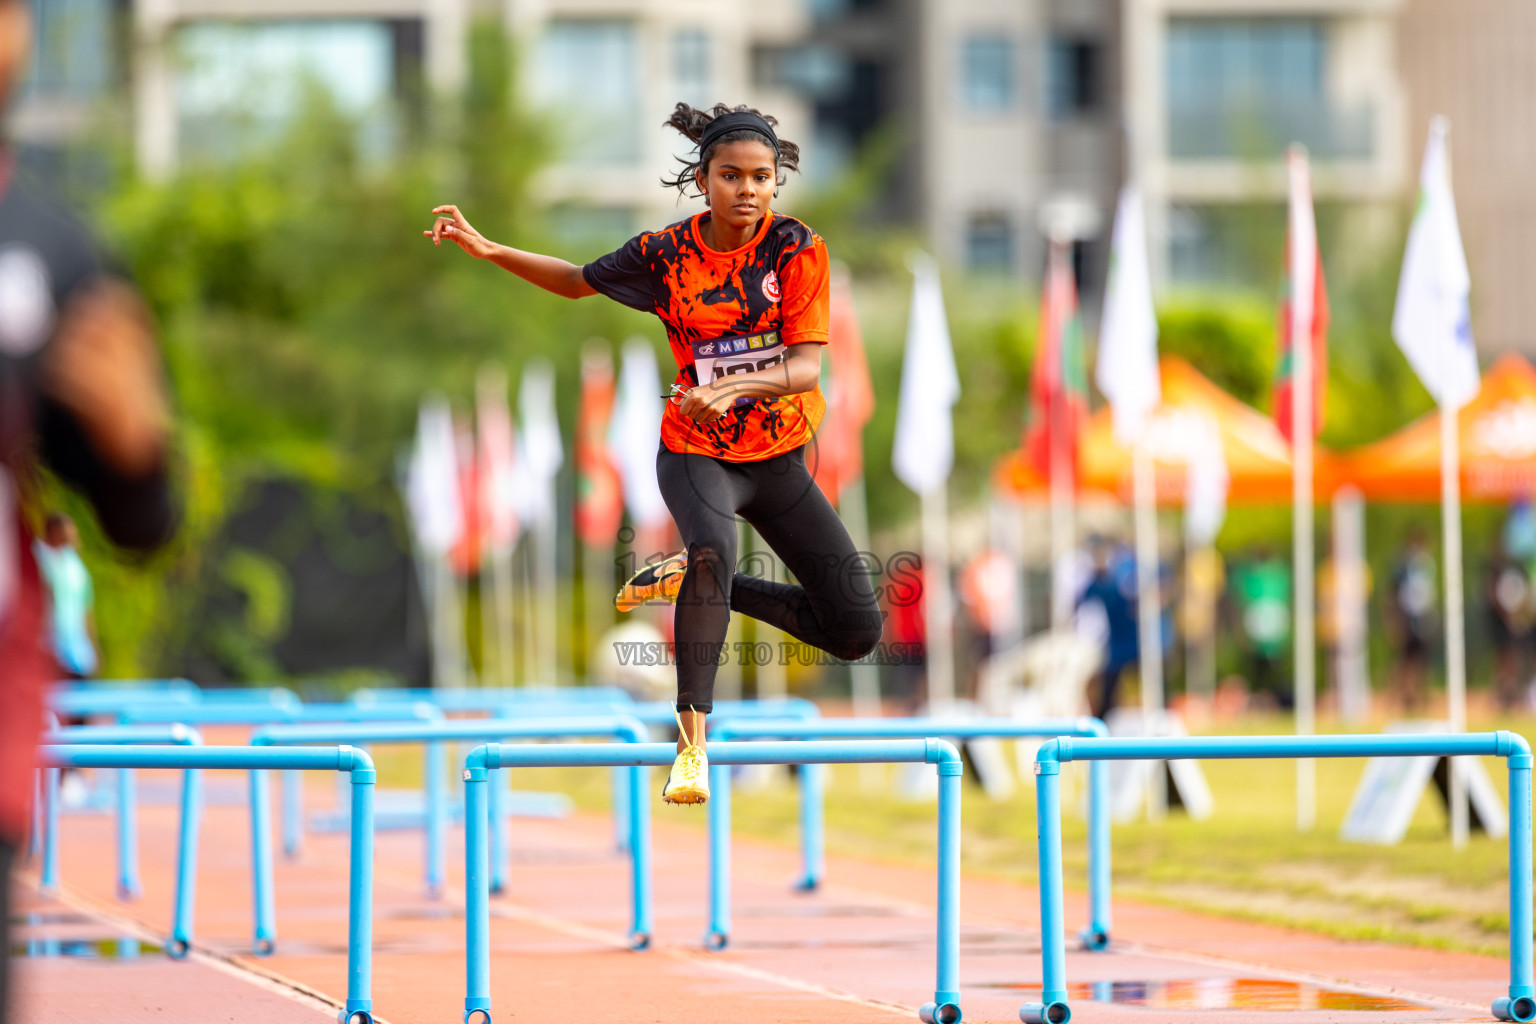
<svg viewBox="0 0 1536 1024">
<path fill-rule="evenodd" d="M 1456 416 L 1461 439 L 1461 496 L 1505 502 L 1536 494 L 1536 367 L 1501 358 L 1482 388 Z M 1367 500 L 1441 499 L 1441 424 L 1432 411 L 1395 434 L 1339 456 L 1344 479 Z"/>
</svg>

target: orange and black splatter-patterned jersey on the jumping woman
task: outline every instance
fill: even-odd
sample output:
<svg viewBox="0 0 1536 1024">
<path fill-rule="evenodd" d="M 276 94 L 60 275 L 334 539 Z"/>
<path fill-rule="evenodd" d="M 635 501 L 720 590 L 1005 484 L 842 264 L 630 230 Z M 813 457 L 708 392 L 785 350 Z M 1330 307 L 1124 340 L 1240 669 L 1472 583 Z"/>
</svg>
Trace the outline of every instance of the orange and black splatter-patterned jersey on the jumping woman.
<svg viewBox="0 0 1536 1024">
<path fill-rule="evenodd" d="M 582 276 L 608 298 L 660 318 L 684 387 L 776 365 L 785 345 L 826 344 L 826 243 L 793 216 L 770 212 L 745 246 L 716 252 L 699 236 L 707 216 L 636 235 L 582 267 Z M 680 454 L 757 462 L 811 441 L 825 411 L 819 387 L 740 399 L 705 425 L 667 402 L 662 444 Z"/>
</svg>

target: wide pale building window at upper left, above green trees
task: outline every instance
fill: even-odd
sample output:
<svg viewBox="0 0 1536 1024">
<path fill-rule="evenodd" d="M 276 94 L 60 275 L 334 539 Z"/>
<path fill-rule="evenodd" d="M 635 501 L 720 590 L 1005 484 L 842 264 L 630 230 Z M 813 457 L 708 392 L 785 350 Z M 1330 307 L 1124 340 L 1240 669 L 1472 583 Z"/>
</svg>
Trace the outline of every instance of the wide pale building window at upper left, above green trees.
<svg viewBox="0 0 1536 1024">
<path fill-rule="evenodd" d="M 387 21 L 194 21 L 177 35 L 184 155 L 230 158 L 269 143 L 326 95 L 359 124 L 364 154 L 389 146 L 395 29 Z"/>
</svg>

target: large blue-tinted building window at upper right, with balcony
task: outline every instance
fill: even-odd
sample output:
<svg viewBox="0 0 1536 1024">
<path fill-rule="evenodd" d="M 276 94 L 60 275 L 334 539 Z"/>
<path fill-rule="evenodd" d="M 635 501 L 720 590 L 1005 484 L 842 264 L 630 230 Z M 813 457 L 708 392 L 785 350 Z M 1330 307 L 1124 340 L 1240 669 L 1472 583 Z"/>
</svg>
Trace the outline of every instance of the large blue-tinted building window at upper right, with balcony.
<svg viewBox="0 0 1536 1024">
<path fill-rule="evenodd" d="M 1293 141 L 1324 158 L 1372 152 L 1372 107 L 1327 97 L 1322 18 L 1172 18 L 1166 55 L 1174 157 L 1273 158 Z"/>
</svg>

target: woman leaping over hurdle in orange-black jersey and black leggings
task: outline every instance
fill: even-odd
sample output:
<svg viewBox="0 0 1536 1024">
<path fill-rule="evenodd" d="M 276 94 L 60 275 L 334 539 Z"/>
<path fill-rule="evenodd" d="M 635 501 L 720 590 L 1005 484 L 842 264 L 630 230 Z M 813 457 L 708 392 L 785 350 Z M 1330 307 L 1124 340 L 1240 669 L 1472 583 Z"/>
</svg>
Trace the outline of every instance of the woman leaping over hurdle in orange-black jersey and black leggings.
<svg viewBox="0 0 1536 1024">
<path fill-rule="evenodd" d="M 690 186 L 708 209 L 631 238 L 587 266 L 499 246 L 456 206 L 433 210 L 422 232 L 458 243 L 556 295 L 602 293 L 656 313 L 677 378 L 662 418 L 656 477 L 685 550 L 637 573 L 616 600 L 677 605 L 677 760 L 670 803 L 710 798 L 705 715 L 713 709 L 731 611 L 751 616 L 840 659 L 880 639 L 880 609 L 865 560 L 805 465 L 826 410 L 817 385 L 828 324 L 826 244 L 770 200 L 800 149 L 777 121 L 723 103 L 685 103 L 667 124 L 697 143 L 668 187 Z M 799 583 L 736 571 L 736 516 L 751 524 Z"/>
</svg>

